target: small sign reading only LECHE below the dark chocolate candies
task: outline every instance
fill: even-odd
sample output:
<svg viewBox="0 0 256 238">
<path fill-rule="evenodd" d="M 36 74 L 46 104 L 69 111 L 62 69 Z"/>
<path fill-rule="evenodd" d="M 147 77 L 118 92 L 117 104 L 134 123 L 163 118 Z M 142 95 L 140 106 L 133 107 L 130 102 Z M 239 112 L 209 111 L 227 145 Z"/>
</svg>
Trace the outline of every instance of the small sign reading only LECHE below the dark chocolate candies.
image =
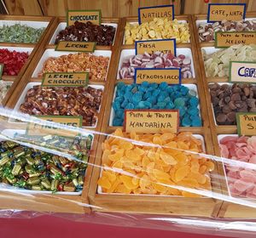
<svg viewBox="0 0 256 238">
<path fill-rule="evenodd" d="M 57 51 L 94 52 L 96 42 L 58 42 L 55 47 Z"/>
</svg>

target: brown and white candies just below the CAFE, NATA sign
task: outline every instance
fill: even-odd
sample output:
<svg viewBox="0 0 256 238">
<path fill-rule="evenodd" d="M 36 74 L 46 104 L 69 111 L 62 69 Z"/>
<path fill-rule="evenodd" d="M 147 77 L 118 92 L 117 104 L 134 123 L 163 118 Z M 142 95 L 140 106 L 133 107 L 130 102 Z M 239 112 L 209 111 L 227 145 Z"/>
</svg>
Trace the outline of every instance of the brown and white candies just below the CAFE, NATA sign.
<svg viewBox="0 0 256 238">
<path fill-rule="evenodd" d="M 213 41 L 217 31 L 256 31 L 256 20 L 222 20 L 216 21 L 213 24 L 201 24 L 198 27 L 200 41 Z"/>
</svg>

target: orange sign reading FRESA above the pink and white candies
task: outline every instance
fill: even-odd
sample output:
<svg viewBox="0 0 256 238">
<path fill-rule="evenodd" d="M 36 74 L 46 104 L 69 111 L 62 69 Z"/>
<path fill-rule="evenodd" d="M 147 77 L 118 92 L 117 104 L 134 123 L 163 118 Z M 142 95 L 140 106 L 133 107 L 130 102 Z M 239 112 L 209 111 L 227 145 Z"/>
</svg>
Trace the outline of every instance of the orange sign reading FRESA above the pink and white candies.
<svg viewBox="0 0 256 238">
<path fill-rule="evenodd" d="M 136 54 L 154 54 L 160 51 L 164 54 L 172 53 L 176 56 L 176 39 L 137 41 L 135 42 Z"/>
</svg>

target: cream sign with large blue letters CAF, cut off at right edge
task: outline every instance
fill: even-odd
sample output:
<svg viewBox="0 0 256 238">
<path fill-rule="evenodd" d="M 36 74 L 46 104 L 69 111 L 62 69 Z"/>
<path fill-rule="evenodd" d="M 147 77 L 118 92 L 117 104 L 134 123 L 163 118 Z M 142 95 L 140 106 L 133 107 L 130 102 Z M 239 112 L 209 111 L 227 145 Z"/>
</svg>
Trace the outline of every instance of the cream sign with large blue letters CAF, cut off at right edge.
<svg viewBox="0 0 256 238">
<path fill-rule="evenodd" d="M 256 62 L 230 61 L 230 82 L 256 83 Z"/>
</svg>

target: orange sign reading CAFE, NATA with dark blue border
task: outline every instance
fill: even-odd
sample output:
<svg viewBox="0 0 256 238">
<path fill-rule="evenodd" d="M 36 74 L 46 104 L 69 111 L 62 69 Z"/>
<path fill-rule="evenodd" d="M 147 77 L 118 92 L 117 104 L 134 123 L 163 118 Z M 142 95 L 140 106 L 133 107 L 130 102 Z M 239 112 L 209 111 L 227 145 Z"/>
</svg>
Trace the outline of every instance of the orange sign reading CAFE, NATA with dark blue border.
<svg viewBox="0 0 256 238">
<path fill-rule="evenodd" d="M 207 22 L 244 20 L 246 3 L 209 3 Z"/>
</svg>

